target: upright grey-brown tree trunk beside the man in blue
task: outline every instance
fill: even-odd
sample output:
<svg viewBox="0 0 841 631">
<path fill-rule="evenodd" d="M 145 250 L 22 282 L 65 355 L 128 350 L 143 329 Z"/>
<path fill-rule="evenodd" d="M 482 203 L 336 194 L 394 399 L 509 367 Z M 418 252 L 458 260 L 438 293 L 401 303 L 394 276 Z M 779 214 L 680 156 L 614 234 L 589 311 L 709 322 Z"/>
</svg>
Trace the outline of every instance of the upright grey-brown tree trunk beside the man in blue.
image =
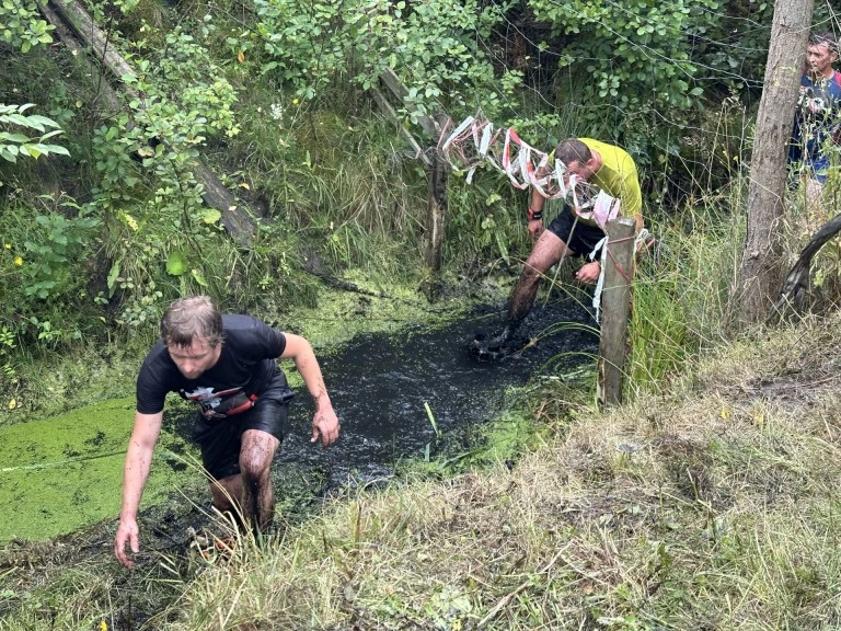
<svg viewBox="0 0 841 631">
<path fill-rule="evenodd" d="M 786 149 L 809 36 L 814 0 L 776 0 L 750 165 L 748 233 L 734 288 L 742 323 L 759 323 L 773 306 L 783 273 Z"/>
</svg>

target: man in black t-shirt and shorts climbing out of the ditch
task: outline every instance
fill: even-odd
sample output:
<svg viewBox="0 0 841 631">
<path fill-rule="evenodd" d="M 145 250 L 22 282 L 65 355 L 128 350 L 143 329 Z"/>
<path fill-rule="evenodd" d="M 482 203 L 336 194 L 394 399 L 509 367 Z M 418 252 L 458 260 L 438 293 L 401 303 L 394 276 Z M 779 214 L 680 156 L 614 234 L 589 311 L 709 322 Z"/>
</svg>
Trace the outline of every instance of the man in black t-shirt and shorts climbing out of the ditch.
<svg viewBox="0 0 841 631">
<path fill-rule="evenodd" d="M 135 427 L 126 454 L 123 508 L 114 552 L 130 567 L 126 543 L 138 552 L 137 510 L 163 421 L 168 392 L 199 410 L 194 438 L 211 477 L 214 505 L 239 514 L 256 529 L 274 516 L 269 470 L 284 438 L 292 391 L 276 359 L 292 359 L 315 402 L 311 443 L 329 447 L 338 418 L 312 346 L 250 316 L 221 316 L 206 296 L 182 298 L 161 321 L 161 340 L 137 378 Z"/>
</svg>

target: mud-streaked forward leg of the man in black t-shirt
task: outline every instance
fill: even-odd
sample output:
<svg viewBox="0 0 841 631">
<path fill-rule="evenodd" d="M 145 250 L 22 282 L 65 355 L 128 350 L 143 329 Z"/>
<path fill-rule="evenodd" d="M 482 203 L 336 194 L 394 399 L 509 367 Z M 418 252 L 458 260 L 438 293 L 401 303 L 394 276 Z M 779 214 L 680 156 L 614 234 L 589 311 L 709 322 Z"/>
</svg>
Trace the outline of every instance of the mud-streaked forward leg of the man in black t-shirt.
<svg viewBox="0 0 841 631">
<path fill-rule="evenodd" d="M 269 472 L 280 441 L 266 432 L 247 429 L 242 435 L 242 515 L 255 535 L 266 531 L 275 515 L 275 494 Z"/>
</svg>

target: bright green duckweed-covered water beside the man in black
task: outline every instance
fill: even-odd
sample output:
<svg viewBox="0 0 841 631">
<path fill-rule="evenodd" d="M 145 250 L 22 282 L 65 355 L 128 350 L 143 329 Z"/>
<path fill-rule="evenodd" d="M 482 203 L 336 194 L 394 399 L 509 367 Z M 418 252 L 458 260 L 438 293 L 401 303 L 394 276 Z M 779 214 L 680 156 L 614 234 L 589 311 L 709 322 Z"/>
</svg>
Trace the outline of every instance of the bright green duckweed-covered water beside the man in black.
<svg viewBox="0 0 841 631">
<path fill-rule="evenodd" d="M 0 505 L 4 507 L 0 543 L 14 538 L 47 539 L 116 519 L 134 416 L 130 397 L 0 426 Z M 196 469 L 173 455 L 184 447 L 180 438 L 161 433 L 143 506 L 164 501 L 189 482 L 200 482 Z"/>
</svg>

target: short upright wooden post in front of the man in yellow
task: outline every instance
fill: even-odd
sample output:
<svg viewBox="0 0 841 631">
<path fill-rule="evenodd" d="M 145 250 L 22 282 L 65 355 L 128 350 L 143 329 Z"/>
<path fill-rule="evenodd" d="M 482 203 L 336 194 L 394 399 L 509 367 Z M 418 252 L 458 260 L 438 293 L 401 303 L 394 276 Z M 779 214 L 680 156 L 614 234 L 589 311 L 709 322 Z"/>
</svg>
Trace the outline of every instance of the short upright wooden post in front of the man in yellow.
<svg viewBox="0 0 841 631">
<path fill-rule="evenodd" d="M 608 222 L 608 256 L 604 261 L 604 285 L 601 290 L 601 339 L 599 342 L 599 390 L 602 408 L 622 401 L 625 357 L 627 356 L 627 320 L 631 314 L 631 284 L 634 278 L 634 230 L 630 218 Z"/>
</svg>

